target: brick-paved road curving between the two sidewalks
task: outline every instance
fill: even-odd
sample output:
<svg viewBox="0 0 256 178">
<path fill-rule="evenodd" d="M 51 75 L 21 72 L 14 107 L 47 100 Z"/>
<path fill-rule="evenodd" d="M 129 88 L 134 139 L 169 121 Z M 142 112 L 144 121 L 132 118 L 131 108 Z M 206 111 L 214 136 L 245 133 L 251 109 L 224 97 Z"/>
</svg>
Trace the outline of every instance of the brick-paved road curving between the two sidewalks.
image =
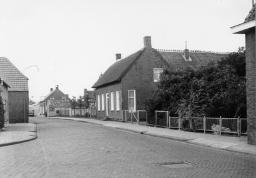
<svg viewBox="0 0 256 178">
<path fill-rule="evenodd" d="M 255 177 L 252 156 L 85 122 L 30 117 L 38 138 L 0 147 L 0 177 Z M 190 168 L 160 163 L 184 161 Z M 178 167 L 182 166 L 177 165 Z"/>
</svg>

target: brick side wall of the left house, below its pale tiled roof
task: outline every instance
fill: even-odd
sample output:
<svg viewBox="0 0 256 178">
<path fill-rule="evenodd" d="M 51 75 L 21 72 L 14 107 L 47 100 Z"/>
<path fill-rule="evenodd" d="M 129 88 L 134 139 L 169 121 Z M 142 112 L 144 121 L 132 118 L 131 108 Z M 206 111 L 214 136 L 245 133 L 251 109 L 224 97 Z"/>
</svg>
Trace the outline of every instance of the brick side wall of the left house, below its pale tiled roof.
<svg viewBox="0 0 256 178">
<path fill-rule="evenodd" d="M 23 91 L 8 91 L 10 123 L 24 122 Z M 28 122 L 28 91 L 25 92 L 26 122 Z"/>
</svg>

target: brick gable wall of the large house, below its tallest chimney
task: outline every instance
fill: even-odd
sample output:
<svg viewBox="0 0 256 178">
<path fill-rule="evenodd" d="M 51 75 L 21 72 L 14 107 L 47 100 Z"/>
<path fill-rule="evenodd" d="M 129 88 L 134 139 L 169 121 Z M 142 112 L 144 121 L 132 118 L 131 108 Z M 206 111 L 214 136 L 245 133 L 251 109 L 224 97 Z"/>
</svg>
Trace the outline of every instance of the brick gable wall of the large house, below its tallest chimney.
<svg viewBox="0 0 256 178">
<path fill-rule="evenodd" d="M 128 110 L 128 90 L 136 91 L 136 110 L 145 110 L 145 100 L 157 89 L 154 68 L 167 68 L 152 48 L 146 48 L 140 58 L 122 78 L 122 107 Z"/>
</svg>

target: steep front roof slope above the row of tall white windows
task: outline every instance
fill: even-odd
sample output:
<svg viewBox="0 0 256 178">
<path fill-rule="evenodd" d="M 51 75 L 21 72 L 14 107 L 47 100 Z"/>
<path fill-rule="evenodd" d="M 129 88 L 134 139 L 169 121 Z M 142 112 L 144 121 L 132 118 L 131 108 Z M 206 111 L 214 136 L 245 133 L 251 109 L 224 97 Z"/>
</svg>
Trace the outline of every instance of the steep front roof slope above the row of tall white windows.
<svg viewBox="0 0 256 178">
<path fill-rule="evenodd" d="M 131 68 L 132 64 L 138 59 L 138 57 L 143 53 L 145 48 L 131 54 L 125 59 L 121 59 L 112 64 L 108 70 L 105 71 L 99 80 L 92 86 L 92 88 L 106 85 L 112 82 L 120 81 L 125 73 Z"/>
</svg>

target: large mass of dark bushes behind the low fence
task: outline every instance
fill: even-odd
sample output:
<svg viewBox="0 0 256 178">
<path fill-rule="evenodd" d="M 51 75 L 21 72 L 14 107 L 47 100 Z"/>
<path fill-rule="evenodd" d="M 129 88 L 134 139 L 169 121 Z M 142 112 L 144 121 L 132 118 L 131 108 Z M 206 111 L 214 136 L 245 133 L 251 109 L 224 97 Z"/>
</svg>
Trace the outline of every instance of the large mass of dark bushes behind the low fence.
<svg viewBox="0 0 256 178">
<path fill-rule="evenodd" d="M 156 110 L 179 116 L 184 130 L 195 131 L 193 117 L 246 118 L 245 48 L 194 71 L 164 70 L 158 89 L 146 101 L 148 121 Z"/>
</svg>

